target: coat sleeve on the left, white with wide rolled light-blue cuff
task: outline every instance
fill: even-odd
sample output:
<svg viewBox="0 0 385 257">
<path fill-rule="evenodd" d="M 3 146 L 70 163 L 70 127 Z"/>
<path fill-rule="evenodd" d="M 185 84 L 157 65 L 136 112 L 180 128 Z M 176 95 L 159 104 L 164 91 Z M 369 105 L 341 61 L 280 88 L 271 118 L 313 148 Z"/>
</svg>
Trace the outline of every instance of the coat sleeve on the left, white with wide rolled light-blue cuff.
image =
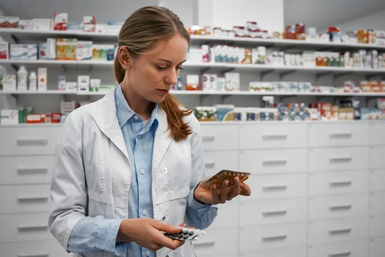
<svg viewBox="0 0 385 257">
<path fill-rule="evenodd" d="M 86 217 L 87 189 L 82 152 L 82 132 L 71 113 L 62 126 L 55 148 L 52 208 L 48 221 L 50 232 L 68 252 L 105 250 L 115 255 L 125 254 L 127 248 L 116 244 L 121 220 Z M 89 233 L 76 233 L 84 224 L 90 226 Z M 72 234 L 75 226 L 78 226 L 74 230 L 76 234 Z M 70 235 L 74 240 L 69 246 Z M 81 245 L 88 247 L 80 248 Z"/>
</svg>

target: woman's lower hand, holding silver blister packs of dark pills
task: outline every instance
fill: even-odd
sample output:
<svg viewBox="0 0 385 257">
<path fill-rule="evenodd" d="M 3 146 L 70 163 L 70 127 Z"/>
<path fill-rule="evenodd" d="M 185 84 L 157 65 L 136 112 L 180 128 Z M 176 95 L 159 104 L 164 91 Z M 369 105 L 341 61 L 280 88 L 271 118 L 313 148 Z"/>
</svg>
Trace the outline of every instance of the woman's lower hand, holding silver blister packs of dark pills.
<svg viewBox="0 0 385 257">
<path fill-rule="evenodd" d="M 116 242 L 135 242 L 151 251 L 157 251 L 162 247 L 171 250 L 183 245 L 183 240 L 172 239 L 163 232 L 178 233 L 184 224 L 172 226 L 150 218 L 124 219 L 119 227 Z"/>
</svg>

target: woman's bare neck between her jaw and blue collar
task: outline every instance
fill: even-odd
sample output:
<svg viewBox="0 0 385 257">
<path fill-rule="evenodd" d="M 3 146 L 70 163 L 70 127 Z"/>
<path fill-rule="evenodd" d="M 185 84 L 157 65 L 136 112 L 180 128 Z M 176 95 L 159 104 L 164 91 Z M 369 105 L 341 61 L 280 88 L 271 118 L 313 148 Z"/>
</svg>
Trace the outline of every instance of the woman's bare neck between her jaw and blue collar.
<svg viewBox="0 0 385 257">
<path fill-rule="evenodd" d="M 132 88 L 125 83 L 125 81 L 122 82 L 122 92 L 130 108 L 138 114 L 142 120 L 147 120 L 151 117 L 155 103 L 140 96 L 132 90 Z"/>
</svg>

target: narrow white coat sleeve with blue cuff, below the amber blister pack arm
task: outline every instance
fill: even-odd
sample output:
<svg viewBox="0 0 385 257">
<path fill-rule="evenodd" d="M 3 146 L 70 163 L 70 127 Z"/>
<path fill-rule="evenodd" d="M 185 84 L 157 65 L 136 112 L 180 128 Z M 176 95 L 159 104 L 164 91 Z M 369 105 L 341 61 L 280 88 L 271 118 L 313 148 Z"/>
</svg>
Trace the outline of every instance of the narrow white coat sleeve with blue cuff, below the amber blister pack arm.
<svg viewBox="0 0 385 257">
<path fill-rule="evenodd" d="M 190 135 L 191 146 L 191 183 L 187 198 L 186 214 L 189 226 L 205 229 L 210 226 L 217 216 L 218 207 L 203 204 L 194 199 L 194 190 L 205 178 L 205 161 L 203 158 L 202 130 L 195 116 L 191 116 L 190 125 L 193 134 Z"/>
</svg>

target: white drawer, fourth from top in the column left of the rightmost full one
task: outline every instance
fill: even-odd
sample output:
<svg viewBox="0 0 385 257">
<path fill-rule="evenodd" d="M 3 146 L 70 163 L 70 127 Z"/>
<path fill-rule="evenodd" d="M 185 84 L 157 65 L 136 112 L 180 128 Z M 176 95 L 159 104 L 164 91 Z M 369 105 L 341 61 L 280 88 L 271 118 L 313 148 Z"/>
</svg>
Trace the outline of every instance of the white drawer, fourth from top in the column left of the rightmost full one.
<svg viewBox="0 0 385 257">
<path fill-rule="evenodd" d="M 306 221 L 306 198 L 240 204 L 240 226 Z"/>
</svg>

